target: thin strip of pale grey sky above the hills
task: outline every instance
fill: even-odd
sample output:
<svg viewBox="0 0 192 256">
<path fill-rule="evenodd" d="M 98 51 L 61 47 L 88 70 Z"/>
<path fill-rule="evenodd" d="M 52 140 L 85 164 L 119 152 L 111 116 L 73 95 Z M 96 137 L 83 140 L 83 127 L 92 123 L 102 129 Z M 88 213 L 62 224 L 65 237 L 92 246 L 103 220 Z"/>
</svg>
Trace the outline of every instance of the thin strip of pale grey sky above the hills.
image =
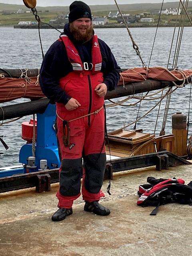
<svg viewBox="0 0 192 256">
<path fill-rule="evenodd" d="M 69 6 L 74 0 L 36 0 L 37 6 Z M 115 4 L 114 0 L 83 0 L 88 5 Z M 116 0 L 118 4 L 161 3 L 162 0 Z M 164 2 L 179 2 L 179 0 L 164 0 Z M 3 4 L 23 4 L 22 0 L 0 0 Z"/>
</svg>

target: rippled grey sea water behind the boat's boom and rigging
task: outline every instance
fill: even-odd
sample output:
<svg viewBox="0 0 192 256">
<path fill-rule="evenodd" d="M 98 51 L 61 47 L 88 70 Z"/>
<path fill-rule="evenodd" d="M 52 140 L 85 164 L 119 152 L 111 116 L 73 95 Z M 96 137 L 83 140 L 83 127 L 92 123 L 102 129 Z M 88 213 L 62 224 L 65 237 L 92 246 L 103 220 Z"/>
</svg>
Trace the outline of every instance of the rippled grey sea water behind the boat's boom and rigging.
<svg viewBox="0 0 192 256">
<path fill-rule="evenodd" d="M 158 28 L 157 33 L 156 28 L 130 28 L 130 32 L 134 42 L 139 47 L 140 55 L 146 66 L 148 66 L 150 62 L 150 67 L 167 67 L 174 28 Z M 173 40 L 170 64 L 168 66 L 169 68 L 172 68 L 178 32 L 179 30 L 176 28 L 176 36 Z M 184 28 L 177 62 L 178 68 L 183 70 L 192 69 L 192 42 L 189 36 L 191 33 L 191 27 Z M 0 34 L 0 68 L 33 69 L 40 68 L 42 63 L 42 50 L 43 53 L 46 54 L 50 45 L 58 39 L 60 32 L 53 29 L 41 29 L 40 37 L 42 41 L 42 49 L 37 29 L 0 27 Z M 142 67 L 142 62 L 132 47 L 132 41 L 126 28 L 95 29 L 95 34 L 108 44 L 121 68 Z M 155 34 L 156 39 L 154 41 Z M 151 93 L 154 92 L 150 92 L 150 94 Z M 158 95 L 160 96 L 160 94 Z M 122 100 L 122 98 L 115 99 L 114 101 L 117 102 L 118 100 Z M 191 107 L 189 110 L 189 100 L 190 84 L 186 85 L 184 88 L 178 88 L 172 94 L 165 126 L 166 134 L 172 133 L 172 114 L 178 111 L 185 113 L 187 115 L 187 120 L 189 115 L 190 126 L 188 137 L 192 134 L 192 113 Z M 0 107 L 26 101 L 29 100 L 23 98 L 17 99 L 12 102 L 0 104 Z M 134 105 L 135 102 L 136 100 L 132 99 L 124 103 L 124 105 L 131 106 L 115 106 L 112 108 L 106 108 L 108 132 L 122 128 L 124 125 L 134 122 L 136 118 L 144 116 L 156 104 L 156 102 L 158 102 L 158 100 L 143 100 L 141 104 Z M 109 101 L 106 101 L 105 103 L 106 105 L 110 104 Z M 166 99 L 162 101 L 160 110 L 158 107 L 154 108 L 154 110 L 149 112 L 144 118 L 136 123 L 136 128 L 143 129 L 143 132 L 155 133 L 156 136 L 158 136 L 162 128 L 165 106 Z M 159 116 L 158 119 L 157 116 Z M 29 121 L 30 118 L 33 117 L 25 116 L 17 121 L 9 123 L 6 122 L 10 120 L 4 120 L 3 125 L 0 126 L 0 136 L 4 136 L 4 141 L 9 146 L 9 149 L 5 150 L 0 143 L 0 152 L 4 153 L 0 156 L 0 167 L 19 164 L 19 151 L 21 146 L 26 143 L 26 141 L 21 138 L 21 123 Z M 156 130 L 154 130 L 155 126 Z M 133 129 L 134 124 L 128 126 L 128 128 Z"/>
</svg>

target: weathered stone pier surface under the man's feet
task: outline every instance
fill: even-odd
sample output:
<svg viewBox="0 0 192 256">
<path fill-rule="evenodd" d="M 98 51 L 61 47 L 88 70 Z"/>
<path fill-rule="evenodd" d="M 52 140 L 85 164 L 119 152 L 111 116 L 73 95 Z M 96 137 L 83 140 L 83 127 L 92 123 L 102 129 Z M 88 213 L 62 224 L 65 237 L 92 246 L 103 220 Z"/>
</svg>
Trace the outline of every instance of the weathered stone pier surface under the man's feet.
<svg viewBox="0 0 192 256">
<path fill-rule="evenodd" d="M 73 214 L 52 222 L 56 212 L 58 184 L 50 192 L 35 188 L 0 194 L 0 256 L 191 256 L 192 206 L 166 204 L 156 216 L 154 207 L 137 206 L 137 190 L 154 178 L 192 180 L 192 166 L 156 171 L 155 166 L 118 172 L 111 181 L 111 196 L 104 181 L 106 197 L 100 203 L 111 214 L 97 216 L 84 212 L 82 197 Z"/>
</svg>

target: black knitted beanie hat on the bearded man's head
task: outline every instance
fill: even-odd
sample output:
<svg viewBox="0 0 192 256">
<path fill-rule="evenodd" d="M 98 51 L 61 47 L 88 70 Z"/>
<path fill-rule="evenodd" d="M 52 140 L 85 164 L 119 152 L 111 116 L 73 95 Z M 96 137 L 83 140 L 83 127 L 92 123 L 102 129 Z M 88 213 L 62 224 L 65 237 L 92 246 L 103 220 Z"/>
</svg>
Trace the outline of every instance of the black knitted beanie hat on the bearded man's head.
<svg viewBox="0 0 192 256">
<path fill-rule="evenodd" d="M 91 10 L 87 4 L 82 1 L 75 1 L 69 6 L 69 23 L 73 22 L 74 20 L 78 20 L 79 18 L 90 18 Z"/>
</svg>

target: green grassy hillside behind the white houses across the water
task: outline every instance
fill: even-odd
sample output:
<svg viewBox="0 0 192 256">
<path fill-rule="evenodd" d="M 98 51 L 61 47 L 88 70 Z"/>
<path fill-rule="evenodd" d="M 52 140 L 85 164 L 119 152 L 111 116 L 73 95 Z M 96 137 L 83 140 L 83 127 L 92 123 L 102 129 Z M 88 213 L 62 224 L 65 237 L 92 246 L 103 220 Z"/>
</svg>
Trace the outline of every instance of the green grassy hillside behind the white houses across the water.
<svg viewBox="0 0 192 256">
<path fill-rule="evenodd" d="M 149 12 L 151 10 L 160 10 L 161 3 L 159 4 L 120 4 L 119 8 L 122 13 L 129 13 L 133 16 L 140 14 L 142 12 Z M 108 16 L 110 11 L 117 11 L 118 8 L 115 4 L 112 5 L 92 5 L 90 6 L 92 14 L 94 16 Z M 178 2 L 164 3 L 163 9 L 166 8 L 178 8 Z M 30 11 L 30 13 L 16 13 L 19 9 L 24 11 Z M 40 19 L 44 22 L 49 22 L 54 18 L 57 18 L 58 14 L 64 13 L 68 14 L 69 6 L 47 6 L 47 7 L 38 7 L 36 6 L 38 15 Z M 188 3 L 188 10 L 192 10 L 192 1 Z M 154 22 L 157 22 L 158 15 L 146 14 L 146 18 L 154 18 Z M 144 18 L 145 18 L 144 17 Z M 191 15 L 190 18 L 192 19 Z M 164 24 L 165 22 L 174 23 L 176 17 L 172 15 L 161 15 L 160 22 Z M 28 9 L 24 4 L 2 4 L 0 3 L 0 26 L 4 25 L 15 25 L 20 21 L 35 21 L 35 16 L 32 14 L 31 10 Z M 116 20 L 110 20 L 110 23 L 116 23 Z M 186 20 L 186 24 L 189 21 Z M 155 25 L 155 24 L 154 24 Z"/>
</svg>

